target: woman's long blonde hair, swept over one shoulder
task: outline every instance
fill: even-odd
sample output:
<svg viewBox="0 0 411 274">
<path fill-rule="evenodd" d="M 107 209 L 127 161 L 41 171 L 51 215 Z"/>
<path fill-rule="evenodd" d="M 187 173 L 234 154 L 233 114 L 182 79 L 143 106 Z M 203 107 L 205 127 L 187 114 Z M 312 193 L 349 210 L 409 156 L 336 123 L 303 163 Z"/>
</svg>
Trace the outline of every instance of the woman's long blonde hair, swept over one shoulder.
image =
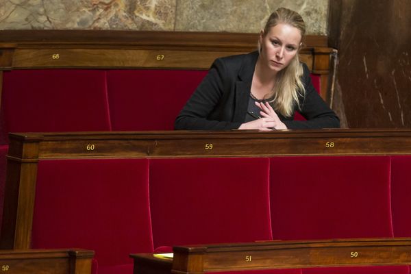
<svg viewBox="0 0 411 274">
<path fill-rule="evenodd" d="M 306 24 L 301 15 L 287 8 L 278 8 L 270 15 L 269 20 L 267 20 L 263 35 L 269 33 L 271 27 L 275 27 L 280 23 L 288 24 L 299 29 L 301 33 L 301 45 L 299 45 L 299 49 L 301 49 L 302 41 L 306 34 Z M 258 52 L 261 53 L 260 39 L 258 40 Z M 289 117 L 294 114 L 295 103 L 297 103 L 298 108 L 301 109 L 298 97 L 299 95 L 304 96 L 306 94 L 306 90 L 300 79 L 301 75 L 303 75 L 303 67 L 299 62 L 297 52 L 290 64 L 277 73 L 274 89 L 271 94 L 269 94 L 269 98 L 271 99 L 269 102 L 273 103 L 274 110 L 278 110 L 283 116 Z"/>
</svg>

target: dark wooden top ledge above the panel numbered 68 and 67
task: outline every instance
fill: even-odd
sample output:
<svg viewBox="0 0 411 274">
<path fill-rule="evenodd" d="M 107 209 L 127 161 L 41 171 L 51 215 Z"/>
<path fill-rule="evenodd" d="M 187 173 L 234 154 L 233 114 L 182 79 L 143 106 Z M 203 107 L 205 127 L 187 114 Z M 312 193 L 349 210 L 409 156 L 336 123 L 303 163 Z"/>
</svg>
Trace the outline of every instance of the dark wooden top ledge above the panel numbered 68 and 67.
<svg viewBox="0 0 411 274">
<path fill-rule="evenodd" d="M 248 51 L 259 34 L 226 32 L 134 32 L 110 30 L 2 30 L 0 45 L 133 45 L 139 47 L 216 47 Z M 327 36 L 306 36 L 308 47 L 327 47 Z"/>
</svg>

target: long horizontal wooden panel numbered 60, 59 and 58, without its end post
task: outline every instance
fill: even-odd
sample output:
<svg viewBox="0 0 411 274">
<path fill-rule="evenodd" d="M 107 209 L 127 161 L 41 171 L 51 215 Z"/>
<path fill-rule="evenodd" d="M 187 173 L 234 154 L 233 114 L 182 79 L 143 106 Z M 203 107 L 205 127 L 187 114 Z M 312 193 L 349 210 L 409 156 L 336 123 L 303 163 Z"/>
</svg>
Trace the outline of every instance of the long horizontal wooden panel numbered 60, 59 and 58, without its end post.
<svg viewBox="0 0 411 274">
<path fill-rule="evenodd" d="M 39 159 L 395 155 L 411 153 L 410 137 L 410 129 L 10 134 L 9 157 L 24 160 L 12 147 L 29 142 L 38 142 Z"/>
</svg>

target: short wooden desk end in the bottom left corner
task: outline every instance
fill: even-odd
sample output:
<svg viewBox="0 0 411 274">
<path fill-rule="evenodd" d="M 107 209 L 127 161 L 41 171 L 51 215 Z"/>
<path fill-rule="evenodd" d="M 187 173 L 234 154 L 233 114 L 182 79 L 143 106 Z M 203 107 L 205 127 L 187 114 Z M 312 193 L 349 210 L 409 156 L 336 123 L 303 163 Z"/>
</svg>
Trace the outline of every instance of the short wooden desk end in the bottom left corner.
<svg viewBox="0 0 411 274">
<path fill-rule="evenodd" d="M 0 251 L 0 271 L 18 274 L 90 274 L 94 251 L 29 249 Z"/>
</svg>

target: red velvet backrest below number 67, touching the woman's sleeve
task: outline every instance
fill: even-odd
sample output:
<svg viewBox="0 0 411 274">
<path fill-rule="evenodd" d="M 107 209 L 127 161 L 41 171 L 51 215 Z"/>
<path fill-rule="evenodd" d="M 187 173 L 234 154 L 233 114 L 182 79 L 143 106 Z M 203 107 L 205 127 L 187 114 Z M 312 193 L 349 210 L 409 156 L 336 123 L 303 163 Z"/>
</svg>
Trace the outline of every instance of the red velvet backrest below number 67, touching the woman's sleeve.
<svg viewBox="0 0 411 274">
<path fill-rule="evenodd" d="M 112 70 L 107 86 L 113 130 L 170 130 L 207 71 Z"/>
</svg>

